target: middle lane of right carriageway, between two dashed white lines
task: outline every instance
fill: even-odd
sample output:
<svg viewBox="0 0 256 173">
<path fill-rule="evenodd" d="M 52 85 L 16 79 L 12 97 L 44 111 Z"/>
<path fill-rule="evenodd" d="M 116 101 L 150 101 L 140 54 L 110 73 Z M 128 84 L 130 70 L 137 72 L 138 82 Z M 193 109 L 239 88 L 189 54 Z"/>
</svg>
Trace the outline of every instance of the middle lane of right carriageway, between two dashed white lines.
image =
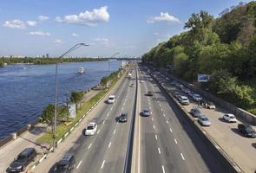
<svg viewBox="0 0 256 173">
<path fill-rule="evenodd" d="M 170 126 L 164 119 L 162 108 L 159 106 L 159 99 L 162 99 L 157 94 L 157 90 L 153 89 L 147 82 L 147 90 L 153 91 L 154 96 L 150 97 L 152 122 L 155 130 L 154 140 L 157 141 L 156 151 L 160 156 L 161 172 L 188 172 L 187 165 L 184 162 L 183 154 L 177 147 L 174 137 L 171 135 Z M 150 158 L 150 157 L 149 157 Z"/>
</svg>

